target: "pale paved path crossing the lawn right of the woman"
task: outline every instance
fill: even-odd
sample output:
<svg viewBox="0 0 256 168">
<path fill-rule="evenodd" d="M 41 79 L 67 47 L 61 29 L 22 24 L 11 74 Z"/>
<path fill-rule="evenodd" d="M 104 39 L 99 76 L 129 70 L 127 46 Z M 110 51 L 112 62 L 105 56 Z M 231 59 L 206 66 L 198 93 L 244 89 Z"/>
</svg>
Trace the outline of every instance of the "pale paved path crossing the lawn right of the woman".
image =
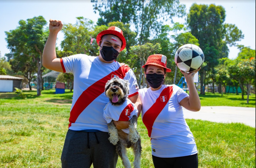
<svg viewBox="0 0 256 168">
<path fill-rule="evenodd" d="M 255 127 L 255 108 L 204 106 L 199 112 L 191 112 L 183 108 L 185 119 L 200 119 L 219 123 L 244 123 Z"/>
</svg>

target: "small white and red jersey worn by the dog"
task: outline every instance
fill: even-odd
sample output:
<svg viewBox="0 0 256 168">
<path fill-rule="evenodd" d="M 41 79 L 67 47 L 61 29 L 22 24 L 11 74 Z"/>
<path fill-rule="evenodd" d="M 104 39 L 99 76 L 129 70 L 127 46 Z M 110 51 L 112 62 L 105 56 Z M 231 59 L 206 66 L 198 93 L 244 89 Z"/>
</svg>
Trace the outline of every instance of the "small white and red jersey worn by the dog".
<svg viewBox="0 0 256 168">
<path fill-rule="evenodd" d="M 103 118 L 107 123 L 110 123 L 112 120 L 130 121 L 134 115 L 138 115 L 137 107 L 129 99 L 126 99 L 124 104 L 120 106 L 114 106 L 109 102 L 104 108 Z M 129 133 L 129 128 L 122 130 Z"/>
</svg>

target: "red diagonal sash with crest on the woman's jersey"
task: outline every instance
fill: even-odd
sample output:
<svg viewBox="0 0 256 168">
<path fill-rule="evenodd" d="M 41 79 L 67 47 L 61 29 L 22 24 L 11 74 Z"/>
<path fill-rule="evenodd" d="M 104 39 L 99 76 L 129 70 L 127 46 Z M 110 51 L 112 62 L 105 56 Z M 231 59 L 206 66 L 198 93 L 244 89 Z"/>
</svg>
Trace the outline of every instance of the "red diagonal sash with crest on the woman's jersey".
<svg viewBox="0 0 256 168">
<path fill-rule="evenodd" d="M 143 116 L 143 123 L 148 129 L 148 136 L 151 136 L 152 132 L 152 126 L 157 118 L 157 116 L 161 113 L 163 108 L 166 106 L 166 104 L 169 102 L 169 99 L 173 93 L 172 86 L 169 86 L 165 88 L 160 96 L 156 99 L 156 103 L 154 103 L 148 111 Z M 161 97 L 166 96 L 166 101 L 161 101 Z M 143 105 L 142 105 L 143 106 Z"/>
</svg>

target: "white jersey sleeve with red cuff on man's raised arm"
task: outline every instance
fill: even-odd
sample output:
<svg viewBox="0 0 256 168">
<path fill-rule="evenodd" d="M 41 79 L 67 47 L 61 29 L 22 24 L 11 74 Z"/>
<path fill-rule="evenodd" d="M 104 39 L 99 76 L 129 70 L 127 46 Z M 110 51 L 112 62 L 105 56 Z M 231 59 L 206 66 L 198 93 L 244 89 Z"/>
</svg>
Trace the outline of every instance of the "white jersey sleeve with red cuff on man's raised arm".
<svg viewBox="0 0 256 168">
<path fill-rule="evenodd" d="M 76 64 L 79 61 L 80 57 L 81 57 L 80 54 L 76 54 L 76 55 L 60 58 L 60 63 L 61 63 L 63 72 L 74 74 L 74 67 L 76 67 Z"/>
</svg>

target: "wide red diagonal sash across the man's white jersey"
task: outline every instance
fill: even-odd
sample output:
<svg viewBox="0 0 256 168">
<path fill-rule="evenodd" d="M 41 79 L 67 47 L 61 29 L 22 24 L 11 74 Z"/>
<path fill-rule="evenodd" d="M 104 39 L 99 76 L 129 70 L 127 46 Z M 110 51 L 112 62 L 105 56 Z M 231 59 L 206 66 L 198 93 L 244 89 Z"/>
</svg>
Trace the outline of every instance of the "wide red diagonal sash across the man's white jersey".
<svg viewBox="0 0 256 168">
<path fill-rule="evenodd" d="M 78 116 L 84 111 L 84 109 L 92 103 L 94 99 L 96 99 L 99 95 L 104 93 L 105 91 L 105 85 L 108 80 L 111 79 L 111 75 L 117 75 L 121 79 L 125 77 L 125 73 L 128 72 L 130 68 L 120 66 L 116 71 L 111 72 L 104 78 L 98 80 L 91 86 L 89 86 L 77 99 L 75 105 L 73 106 L 71 112 L 70 112 L 70 118 L 69 118 L 69 127 L 71 126 L 71 123 L 75 123 Z M 103 110 L 103 109 L 102 109 Z"/>
</svg>

